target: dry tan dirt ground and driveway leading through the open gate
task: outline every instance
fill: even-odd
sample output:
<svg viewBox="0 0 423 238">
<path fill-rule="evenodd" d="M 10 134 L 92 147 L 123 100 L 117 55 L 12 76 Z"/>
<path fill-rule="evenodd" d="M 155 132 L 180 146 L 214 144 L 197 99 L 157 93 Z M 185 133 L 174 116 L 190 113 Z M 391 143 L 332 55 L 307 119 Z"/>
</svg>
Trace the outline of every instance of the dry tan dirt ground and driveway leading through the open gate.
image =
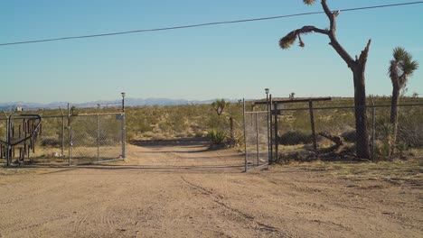
<svg viewBox="0 0 423 238">
<path fill-rule="evenodd" d="M 110 164 L 1 168 L 0 237 L 423 237 L 421 163 L 402 182 L 242 164 L 184 142 L 128 145 Z"/>
</svg>

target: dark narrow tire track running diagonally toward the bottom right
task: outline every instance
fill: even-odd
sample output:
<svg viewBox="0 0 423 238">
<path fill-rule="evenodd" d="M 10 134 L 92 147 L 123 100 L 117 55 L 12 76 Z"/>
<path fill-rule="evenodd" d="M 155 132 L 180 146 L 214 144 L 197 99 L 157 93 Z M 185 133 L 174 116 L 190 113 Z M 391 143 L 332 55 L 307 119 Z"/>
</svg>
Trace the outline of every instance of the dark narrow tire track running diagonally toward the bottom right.
<svg viewBox="0 0 423 238">
<path fill-rule="evenodd" d="M 249 215 L 245 212 L 240 211 L 237 208 L 233 208 L 228 206 L 227 204 L 225 204 L 223 201 L 221 201 L 221 196 L 215 195 L 213 192 L 211 192 L 210 190 L 208 190 L 207 188 L 203 188 L 200 185 L 196 185 L 193 184 L 192 182 L 188 181 L 186 178 L 183 178 L 183 176 L 181 176 L 181 179 L 183 180 L 183 183 L 185 183 L 186 185 L 188 185 L 190 188 L 199 190 L 202 192 L 203 195 L 209 197 L 211 199 L 211 201 L 213 201 L 214 203 L 230 210 L 230 212 L 234 215 L 238 215 L 241 218 L 248 220 L 249 222 L 251 222 L 253 225 L 254 229 L 259 230 L 260 232 L 270 232 L 273 233 L 274 235 L 276 235 L 277 237 L 294 237 L 291 234 L 288 233 L 284 233 L 281 230 L 279 230 L 277 227 L 269 225 L 269 224 L 264 224 L 262 222 L 259 222 L 257 219 L 255 219 L 255 217 L 253 215 Z"/>
</svg>

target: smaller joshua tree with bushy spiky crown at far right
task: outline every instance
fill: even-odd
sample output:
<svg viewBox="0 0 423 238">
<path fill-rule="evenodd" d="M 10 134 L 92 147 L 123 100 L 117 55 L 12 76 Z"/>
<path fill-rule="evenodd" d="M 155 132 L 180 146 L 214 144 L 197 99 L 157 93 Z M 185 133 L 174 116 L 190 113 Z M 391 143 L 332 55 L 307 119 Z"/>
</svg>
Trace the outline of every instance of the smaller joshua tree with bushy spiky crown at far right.
<svg viewBox="0 0 423 238">
<path fill-rule="evenodd" d="M 393 126 L 392 151 L 395 148 L 398 133 L 398 105 L 400 102 L 400 91 L 407 85 L 407 80 L 413 72 L 418 69 L 418 61 L 413 60 L 409 52 L 402 47 L 393 50 L 393 59 L 390 60 L 390 81 L 392 82 L 392 102 L 390 105 L 390 123 Z"/>
</svg>

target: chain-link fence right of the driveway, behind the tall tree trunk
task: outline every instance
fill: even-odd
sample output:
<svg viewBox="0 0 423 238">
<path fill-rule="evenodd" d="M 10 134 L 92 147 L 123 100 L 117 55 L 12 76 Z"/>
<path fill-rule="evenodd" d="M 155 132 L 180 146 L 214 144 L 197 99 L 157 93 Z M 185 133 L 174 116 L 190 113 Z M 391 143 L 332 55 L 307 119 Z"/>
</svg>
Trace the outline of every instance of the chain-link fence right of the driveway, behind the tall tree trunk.
<svg viewBox="0 0 423 238">
<path fill-rule="evenodd" d="M 367 148 L 357 147 L 353 106 L 278 110 L 275 159 L 348 160 L 356 159 L 360 150 L 368 151 L 371 160 L 421 158 L 423 105 L 399 105 L 398 108 L 398 129 L 395 130 L 390 105 L 367 107 Z"/>
</svg>

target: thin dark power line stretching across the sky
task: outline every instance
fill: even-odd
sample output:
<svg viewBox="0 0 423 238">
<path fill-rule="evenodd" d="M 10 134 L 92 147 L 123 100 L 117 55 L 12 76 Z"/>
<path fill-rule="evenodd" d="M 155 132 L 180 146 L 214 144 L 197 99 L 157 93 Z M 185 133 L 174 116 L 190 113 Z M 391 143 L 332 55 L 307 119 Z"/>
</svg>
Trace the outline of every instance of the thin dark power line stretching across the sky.
<svg viewBox="0 0 423 238">
<path fill-rule="evenodd" d="M 361 10 L 368 10 L 368 9 L 375 9 L 375 8 L 384 8 L 384 7 L 401 6 L 401 5 L 418 5 L 418 4 L 423 4 L 423 1 L 392 4 L 392 5 L 362 6 L 362 7 L 341 9 L 340 11 L 341 12 L 353 12 L 353 11 L 361 11 Z M 33 41 L 15 41 L 15 42 L 0 43 L 0 46 L 15 45 L 15 44 L 39 43 L 39 42 L 46 42 L 46 41 L 74 40 L 74 39 L 103 37 L 103 36 L 130 34 L 130 33 L 139 33 L 139 32 L 160 32 L 160 31 L 177 30 L 177 29 L 183 29 L 183 28 L 194 28 L 194 27 L 202 27 L 202 26 L 217 25 L 217 24 L 248 23 L 248 22 L 267 21 L 267 20 L 274 20 L 274 19 L 278 19 L 278 18 L 288 18 L 288 17 L 311 15 L 311 14 L 324 14 L 324 12 L 322 11 L 322 12 L 309 12 L 309 13 L 303 13 L 303 14 L 287 14 L 287 15 L 268 16 L 268 17 L 251 18 L 251 19 L 243 19 L 243 20 L 234 20 L 234 21 L 224 21 L 224 22 L 214 22 L 214 23 L 199 23 L 199 24 L 171 26 L 171 27 L 164 27 L 164 28 L 143 29 L 143 30 L 135 30 L 135 31 L 127 31 L 127 32 L 109 32 L 109 33 L 101 33 L 101 34 L 67 36 L 67 37 L 60 37 L 60 38 L 33 40 Z"/>
</svg>

